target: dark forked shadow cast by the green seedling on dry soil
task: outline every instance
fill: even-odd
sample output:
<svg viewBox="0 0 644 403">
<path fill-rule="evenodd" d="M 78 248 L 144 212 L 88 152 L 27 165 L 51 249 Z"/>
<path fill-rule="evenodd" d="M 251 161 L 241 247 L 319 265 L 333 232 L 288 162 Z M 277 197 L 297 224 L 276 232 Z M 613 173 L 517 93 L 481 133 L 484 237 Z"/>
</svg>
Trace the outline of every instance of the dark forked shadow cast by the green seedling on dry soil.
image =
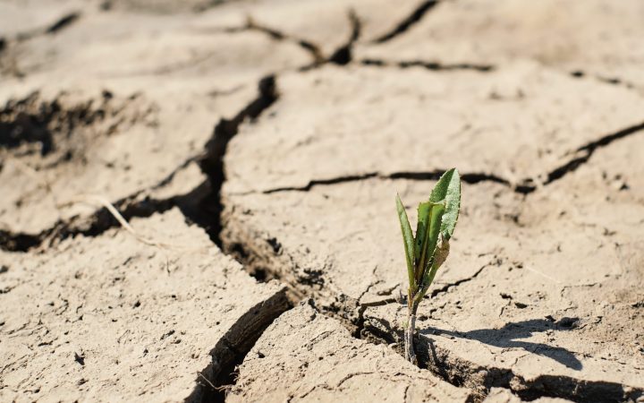
<svg viewBox="0 0 644 403">
<path fill-rule="evenodd" d="M 521 341 L 532 336 L 533 333 L 548 330 L 574 330 L 577 318 L 562 318 L 555 322 L 547 319 L 531 319 L 529 321 L 506 323 L 501 329 L 479 329 L 470 331 L 451 331 L 438 329 L 425 329 L 419 332 L 423 335 L 447 335 L 461 339 L 479 340 L 490 346 L 502 348 L 523 348 L 531 354 L 547 356 L 556 362 L 575 371 L 582 368 L 580 360 L 563 347 L 548 346 L 543 343 Z"/>
</svg>

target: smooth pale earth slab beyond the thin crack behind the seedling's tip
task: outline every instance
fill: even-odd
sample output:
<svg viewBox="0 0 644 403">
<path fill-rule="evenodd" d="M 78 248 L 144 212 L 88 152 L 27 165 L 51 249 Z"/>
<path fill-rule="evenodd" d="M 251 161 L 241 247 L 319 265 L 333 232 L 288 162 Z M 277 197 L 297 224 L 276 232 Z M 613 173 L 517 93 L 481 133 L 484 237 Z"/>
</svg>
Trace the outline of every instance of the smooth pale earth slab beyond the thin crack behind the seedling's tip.
<svg viewBox="0 0 644 403">
<path fill-rule="evenodd" d="M 597 138 L 642 131 L 633 91 L 537 64 L 493 72 L 338 68 L 284 74 L 280 98 L 243 125 L 225 156 L 225 192 L 306 189 L 352 177 L 437 176 L 504 184 L 551 180 Z"/>
</svg>

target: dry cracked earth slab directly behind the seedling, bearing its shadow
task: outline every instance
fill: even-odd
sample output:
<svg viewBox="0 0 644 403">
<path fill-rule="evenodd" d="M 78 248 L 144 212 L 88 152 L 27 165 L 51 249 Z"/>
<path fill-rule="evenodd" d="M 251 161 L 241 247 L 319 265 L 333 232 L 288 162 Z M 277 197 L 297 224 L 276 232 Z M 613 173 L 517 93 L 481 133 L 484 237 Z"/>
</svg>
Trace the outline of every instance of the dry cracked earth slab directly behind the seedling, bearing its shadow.
<svg viewBox="0 0 644 403">
<path fill-rule="evenodd" d="M 364 326 L 363 337 L 400 341 L 405 305 L 395 300 L 405 270 L 394 191 L 411 207 L 431 184 L 371 178 L 234 196 L 226 201 L 225 246 L 292 293 L 316 296 L 328 312 Z M 421 339 L 437 351 L 425 362 L 480 396 L 514 385 L 526 399 L 636 399 L 644 390 L 640 224 L 606 213 L 618 231 L 606 234 L 570 218 L 573 200 L 521 224 L 523 214 L 548 205 L 539 192 L 563 198 L 549 189 L 521 201 L 498 184 L 463 186 L 452 254 L 419 310 Z M 641 217 L 632 201 L 623 206 Z"/>
</svg>

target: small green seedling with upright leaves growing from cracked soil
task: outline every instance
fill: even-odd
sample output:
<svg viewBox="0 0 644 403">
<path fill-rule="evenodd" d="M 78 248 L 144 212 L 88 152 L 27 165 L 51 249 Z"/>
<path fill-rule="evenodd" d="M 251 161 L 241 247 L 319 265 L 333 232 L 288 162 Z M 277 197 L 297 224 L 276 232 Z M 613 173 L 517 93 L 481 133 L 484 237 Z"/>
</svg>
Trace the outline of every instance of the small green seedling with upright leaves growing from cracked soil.
<svg viewBox="0 0 644 403">
<path fill-rule="evenodd" d="M 396 195 L 396 208 L 402 230 L 405 261 L 409 276 L 407 291 L 407 323 L 404 332 L 405 358 L 417 364 L 413 347 L 416 331 L 416 311 L 423 296 L 431 286 L 436 271 L 449 254 L 449 240 L 452 237 L 459 208 L 461 207 L 461 177 L 452 168 L 438 179 L 429 200 L 421 202 L 418 208 L 416 236 L 411 233 L 407 212 L 400 196 Z"/>
</svg>

